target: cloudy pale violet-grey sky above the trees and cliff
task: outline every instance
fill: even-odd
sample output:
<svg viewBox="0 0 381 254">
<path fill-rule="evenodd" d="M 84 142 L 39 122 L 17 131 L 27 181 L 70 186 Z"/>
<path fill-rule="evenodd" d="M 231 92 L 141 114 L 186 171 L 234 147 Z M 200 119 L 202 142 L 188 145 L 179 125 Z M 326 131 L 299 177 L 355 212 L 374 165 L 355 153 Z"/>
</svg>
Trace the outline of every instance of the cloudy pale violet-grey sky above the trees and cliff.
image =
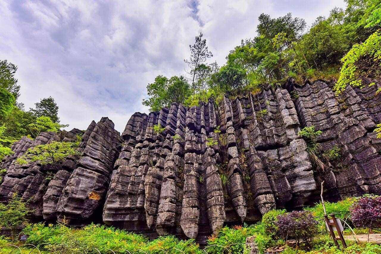
<svg viewBox="0 0 381 254">
<path fill-rule="evenodd" d="M 18 65 L 19 102 L 53 96 L 66 129 L 109 117 L 123 132 L 157 75 L 187 75 L 189 44 L 203 32 L 221 66 L 258 16 L 291 12 L 311 25 L 343 0 L 0 0 L 0 59 Z"/>
</svg>

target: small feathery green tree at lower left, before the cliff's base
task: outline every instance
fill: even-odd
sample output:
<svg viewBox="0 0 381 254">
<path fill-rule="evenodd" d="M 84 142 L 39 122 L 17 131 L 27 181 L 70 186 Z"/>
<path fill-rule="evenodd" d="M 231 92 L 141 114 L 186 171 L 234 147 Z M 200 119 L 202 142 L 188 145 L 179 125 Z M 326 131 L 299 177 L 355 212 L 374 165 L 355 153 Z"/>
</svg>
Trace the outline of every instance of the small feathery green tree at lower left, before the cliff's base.
<svg viewBox="0 0 381 254">
<path fill-rule="evenodd" d="M 32 212 L 27 208 L 26 203 L 22 202 L 21 197 L 14 193 L 8 204 L 0 203 L 0 226 L 11 230 L 12 241 L 16 236 L 20 226 L 25 224 L 28 214 Z"/>
</svg>

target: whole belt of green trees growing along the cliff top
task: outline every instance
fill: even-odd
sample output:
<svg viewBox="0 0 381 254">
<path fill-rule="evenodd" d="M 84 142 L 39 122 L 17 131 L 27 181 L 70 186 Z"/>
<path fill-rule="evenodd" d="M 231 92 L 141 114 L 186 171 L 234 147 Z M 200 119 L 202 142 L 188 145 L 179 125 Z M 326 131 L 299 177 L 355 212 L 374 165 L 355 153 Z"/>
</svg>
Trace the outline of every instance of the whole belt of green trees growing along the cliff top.
<svg viewBox="0 0 381 254">
<path fill-rule="evenodd" d="M 346 3 L 345 9 L 334 8 L 328 17 L 319 16 L 309 29 L 304 19 L 291 13 L 279 18 L 261 14 L 257 35 L 242 40 L 221 67 L 216 62 L 207 62 L 213 54 L 200 33 L 194 45 L 189 45 L 190 58 L 184 60 L 190 68 L 187 79 L 191 85 L 184 80 L 186 89 L 180 89 L 181 100 L 167 96 L 165 89 L 152 89 L 150 84 L 149 99 L 143 104 L 154 111 L 179 101 L 192 107 L 213 98 L 218 104 L 225 93 L 237 95 L 246 91 L 255 95 L 262 84 L 282 84 L 289 77 L 298 83 L 306 78 L 338 80 L 336 93 L 346 85 L 362 86 L 363 78 L 379 79 L 381 4 L 378 0 L 346 0 Z M 166 80 L 158 76 L 154 86 Z M 291 97 L 296 99 L 298 94 Z"/>
</svg>

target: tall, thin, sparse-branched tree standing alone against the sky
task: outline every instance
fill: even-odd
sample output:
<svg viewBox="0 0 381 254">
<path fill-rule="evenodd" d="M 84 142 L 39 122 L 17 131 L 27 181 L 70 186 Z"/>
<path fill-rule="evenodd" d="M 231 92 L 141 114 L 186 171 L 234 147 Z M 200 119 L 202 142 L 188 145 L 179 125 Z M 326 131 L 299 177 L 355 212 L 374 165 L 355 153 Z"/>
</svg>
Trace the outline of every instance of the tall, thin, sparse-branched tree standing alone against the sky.
<svg viewBox="0 0 381 254">
<path fill-rule="evenodd" d="M 189 45 L 189 48 L 191 49 L 191 57 L 189 60 L 184 59 L 184 62 L 186 62 L 189 68 L 191 68 L 191 74 L 193 76 L 192 89 L 194 91 L 197 90 L 195 84 L 196 75 L 200 75 L 199 72 L 204 71 L 204 69 L 200 68 L 199 65 L 205 63 L 208 58 L 213 56 L 213 54 L 208 50 L 207 40 L 202 37 L 202 32 L 200 32 L 199 36 L 195 37 L 195 43 L 193 45 Z"/>
</svg>

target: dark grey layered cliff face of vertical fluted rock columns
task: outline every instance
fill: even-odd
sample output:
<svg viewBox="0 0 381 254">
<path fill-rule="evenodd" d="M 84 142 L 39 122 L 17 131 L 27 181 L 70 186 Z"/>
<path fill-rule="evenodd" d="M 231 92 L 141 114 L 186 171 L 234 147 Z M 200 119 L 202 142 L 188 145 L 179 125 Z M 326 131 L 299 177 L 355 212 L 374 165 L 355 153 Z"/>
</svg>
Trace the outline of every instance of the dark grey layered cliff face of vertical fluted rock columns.
<svg viewBox="0 0 381 254">
<path fill-rule="evenodd" d="M 83 135 L 82 156 L 59 168 L 14 160 L 34 145 L 74 140 L 79 130 L 24 137 L 0 164 L 7 169 L 0 200 L 17 192 L 31 198 L 41 220 L 103 221 L 152 237 L 176 234 L 202 242 L 224 224 L 313 204 L 323 180 L 327 200 L 381 194 L 381 140 L 373 133 L 381 122 L 377 86 L 348 87 L 335 97 L 323 81 L 297 85 L 291 79 L 285 89 L 265 86 L 219 105 L 173 104 L 135 113 L 122 136 L 102 118 Z M 157 124 L 165 130 L 155 132 Z M 305 126 L 323 132 L 318 142 L 324 151 L 341 149 L 324 170 L 298 136 Z"/>
</svg>

